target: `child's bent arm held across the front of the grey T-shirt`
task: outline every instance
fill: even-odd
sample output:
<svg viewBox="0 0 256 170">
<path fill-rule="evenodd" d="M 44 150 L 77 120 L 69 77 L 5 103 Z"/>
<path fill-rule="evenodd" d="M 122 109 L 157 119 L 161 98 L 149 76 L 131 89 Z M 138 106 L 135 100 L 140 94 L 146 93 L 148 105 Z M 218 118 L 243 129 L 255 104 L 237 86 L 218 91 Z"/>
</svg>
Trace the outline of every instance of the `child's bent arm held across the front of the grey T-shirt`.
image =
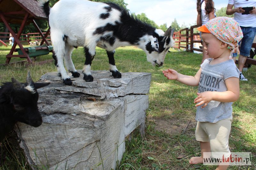
<svg viewBox="0 0 256 170">
<path fill-rule="evenodd" d="M 233 102 L 238 100 L 239 98 L 239 78 L 231 77 L 225 80 L 225 84 L 227 86 L 227 91 L 225 92 L 202 92 L 197 93 L 197 97 L 194 100 L 194 103 L 197 103 L 196 106 L 203 105 L 203 107 L 207 106 L 207 104 L 211 100 L 216 100 L 220 102 Z"/>
</svg>

